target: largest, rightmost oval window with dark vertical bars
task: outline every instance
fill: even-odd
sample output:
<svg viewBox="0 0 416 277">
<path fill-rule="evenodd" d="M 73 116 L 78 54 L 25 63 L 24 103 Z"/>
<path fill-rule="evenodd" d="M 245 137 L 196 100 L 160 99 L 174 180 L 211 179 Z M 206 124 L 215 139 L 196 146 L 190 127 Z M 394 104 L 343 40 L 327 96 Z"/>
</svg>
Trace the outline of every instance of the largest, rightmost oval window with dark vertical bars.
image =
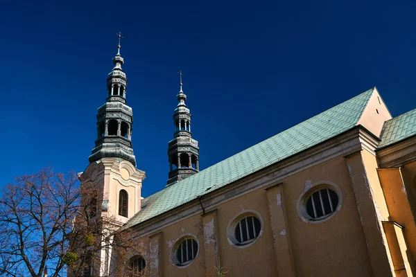
<svg viewBox="0 0 416 277">
<path fill-rule="evenodd" d="M 331 215 L 338 206 L 338 195 L 329 188 L 313 193 L 306 202 L 306 213 L 312 220 L 322 220 Z"/>
</svg>

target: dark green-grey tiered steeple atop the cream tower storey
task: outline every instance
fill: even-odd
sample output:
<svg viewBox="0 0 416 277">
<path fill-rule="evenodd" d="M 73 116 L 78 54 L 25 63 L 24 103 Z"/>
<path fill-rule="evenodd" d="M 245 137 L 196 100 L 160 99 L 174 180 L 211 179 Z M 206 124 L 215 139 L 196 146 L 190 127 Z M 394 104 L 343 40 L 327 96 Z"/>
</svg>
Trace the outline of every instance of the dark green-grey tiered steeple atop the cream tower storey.
<svg viewBox="0 0 416 277">
<path fill-rule="evenodd" d="M 107 77 L 107 98 L 103 106 L 98 108 L 96 147 L 89 156 L 89 162 L 104 157 L 122 158 L 136 165 L 132 150 L 131 132 L 133 125 L 132 108 L 125 105 L 127 78 L 121 66 L 124 63 L 120 55 L 120 39 L 116 56 L 112 59 L 114 68 Z"/>
</svg>

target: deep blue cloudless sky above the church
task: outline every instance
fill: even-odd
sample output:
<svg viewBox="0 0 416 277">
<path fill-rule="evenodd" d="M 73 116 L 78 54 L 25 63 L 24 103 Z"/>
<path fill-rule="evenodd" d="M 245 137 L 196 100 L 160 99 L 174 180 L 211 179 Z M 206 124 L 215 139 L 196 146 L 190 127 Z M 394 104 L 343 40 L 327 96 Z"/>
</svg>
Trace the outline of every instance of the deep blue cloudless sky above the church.
<svg viewBox="0 0 416 277">
<path fill-rule="evenodd" d="M 164 188 L 177 71 L 207 168 L 371 87 L 416 108 L 415 1 L 5 1 L 1 185 L 81 172 L 116 54 L 142 194 Z"/>
</svg>

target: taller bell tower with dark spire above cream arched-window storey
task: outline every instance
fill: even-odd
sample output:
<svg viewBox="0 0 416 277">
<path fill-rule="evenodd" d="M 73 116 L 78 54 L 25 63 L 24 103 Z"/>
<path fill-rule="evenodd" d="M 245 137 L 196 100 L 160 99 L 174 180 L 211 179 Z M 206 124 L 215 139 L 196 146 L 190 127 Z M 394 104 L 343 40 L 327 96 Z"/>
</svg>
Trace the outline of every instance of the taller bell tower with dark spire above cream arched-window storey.
<svg viewBox="0 0 416 277">
<path fill-rule="evenodd" d="M 120 39 L 114 67 L 107 77 L 105 104 L 98 108 L 97 138 L 89 156 L 89 166 L 80 173 L 81 186 L 94 188 L 94 216 L 112 218 L 122 226 L 139 212 L 141 182 L 145 172 L 136 168 L 132 148 L 132 108 L 126 105 L 127 78 L 121 66 Z"/>
</svg>

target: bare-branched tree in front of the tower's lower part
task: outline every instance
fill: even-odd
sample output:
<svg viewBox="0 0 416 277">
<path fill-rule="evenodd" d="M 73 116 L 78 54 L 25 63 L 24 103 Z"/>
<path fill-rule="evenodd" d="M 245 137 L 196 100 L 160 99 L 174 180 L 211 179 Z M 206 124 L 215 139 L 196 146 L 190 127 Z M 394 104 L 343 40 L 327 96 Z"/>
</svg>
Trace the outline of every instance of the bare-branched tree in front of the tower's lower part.
<svg viewBox="0 0 416 277">
<path fill-rule="evenodd" d="M 80 187 L 74 172 L 51 168 L 15 178 L 0 198 L 0 275 L 121 275 L 128 256 L 143 251 L 129 231 L 101 213 L 96 188 Z M 103 262 L 106 256 L 106 262 Z M 104 270 L 109 274 L 109 270 Z M 98 274 L 94 274 L 98 275 Z"/>
</svg>

